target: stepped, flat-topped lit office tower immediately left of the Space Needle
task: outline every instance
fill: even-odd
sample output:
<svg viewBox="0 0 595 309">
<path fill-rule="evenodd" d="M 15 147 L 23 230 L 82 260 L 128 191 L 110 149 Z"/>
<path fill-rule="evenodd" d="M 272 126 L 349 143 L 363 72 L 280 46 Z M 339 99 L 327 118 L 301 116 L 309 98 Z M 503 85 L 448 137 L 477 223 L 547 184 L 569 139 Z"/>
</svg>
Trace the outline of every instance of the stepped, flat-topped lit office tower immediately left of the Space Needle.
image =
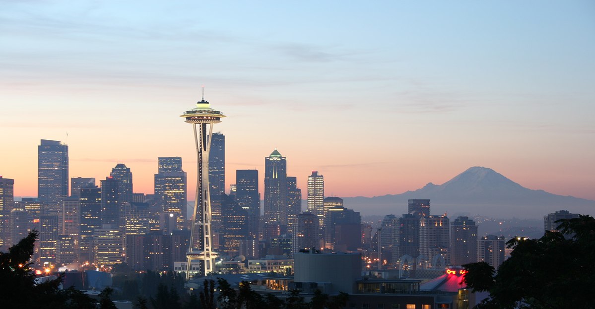
<svg viewBox="0 0 595 309">
<path fill-rule="evenodd" d="M 176 213 L 176 228 L 186 220 L 187 181 L 181 157 L 159 157 L 155 174 L 155 196 L 164 213 Z"/>
</svg>

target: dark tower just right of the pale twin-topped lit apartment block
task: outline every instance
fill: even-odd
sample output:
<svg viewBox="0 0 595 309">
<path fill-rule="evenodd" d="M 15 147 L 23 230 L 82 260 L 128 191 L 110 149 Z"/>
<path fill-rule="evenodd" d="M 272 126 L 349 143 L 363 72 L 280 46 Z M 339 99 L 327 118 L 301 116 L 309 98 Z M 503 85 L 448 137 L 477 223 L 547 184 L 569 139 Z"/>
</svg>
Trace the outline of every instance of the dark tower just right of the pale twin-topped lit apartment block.
<svg viewBox="0 0 595 309">
<path fill-rule="evenodd" d="M 469 217 L 457 217 L 450 223 L 450 264 L 477 262 L 477 225 Z"/>
</svg>

